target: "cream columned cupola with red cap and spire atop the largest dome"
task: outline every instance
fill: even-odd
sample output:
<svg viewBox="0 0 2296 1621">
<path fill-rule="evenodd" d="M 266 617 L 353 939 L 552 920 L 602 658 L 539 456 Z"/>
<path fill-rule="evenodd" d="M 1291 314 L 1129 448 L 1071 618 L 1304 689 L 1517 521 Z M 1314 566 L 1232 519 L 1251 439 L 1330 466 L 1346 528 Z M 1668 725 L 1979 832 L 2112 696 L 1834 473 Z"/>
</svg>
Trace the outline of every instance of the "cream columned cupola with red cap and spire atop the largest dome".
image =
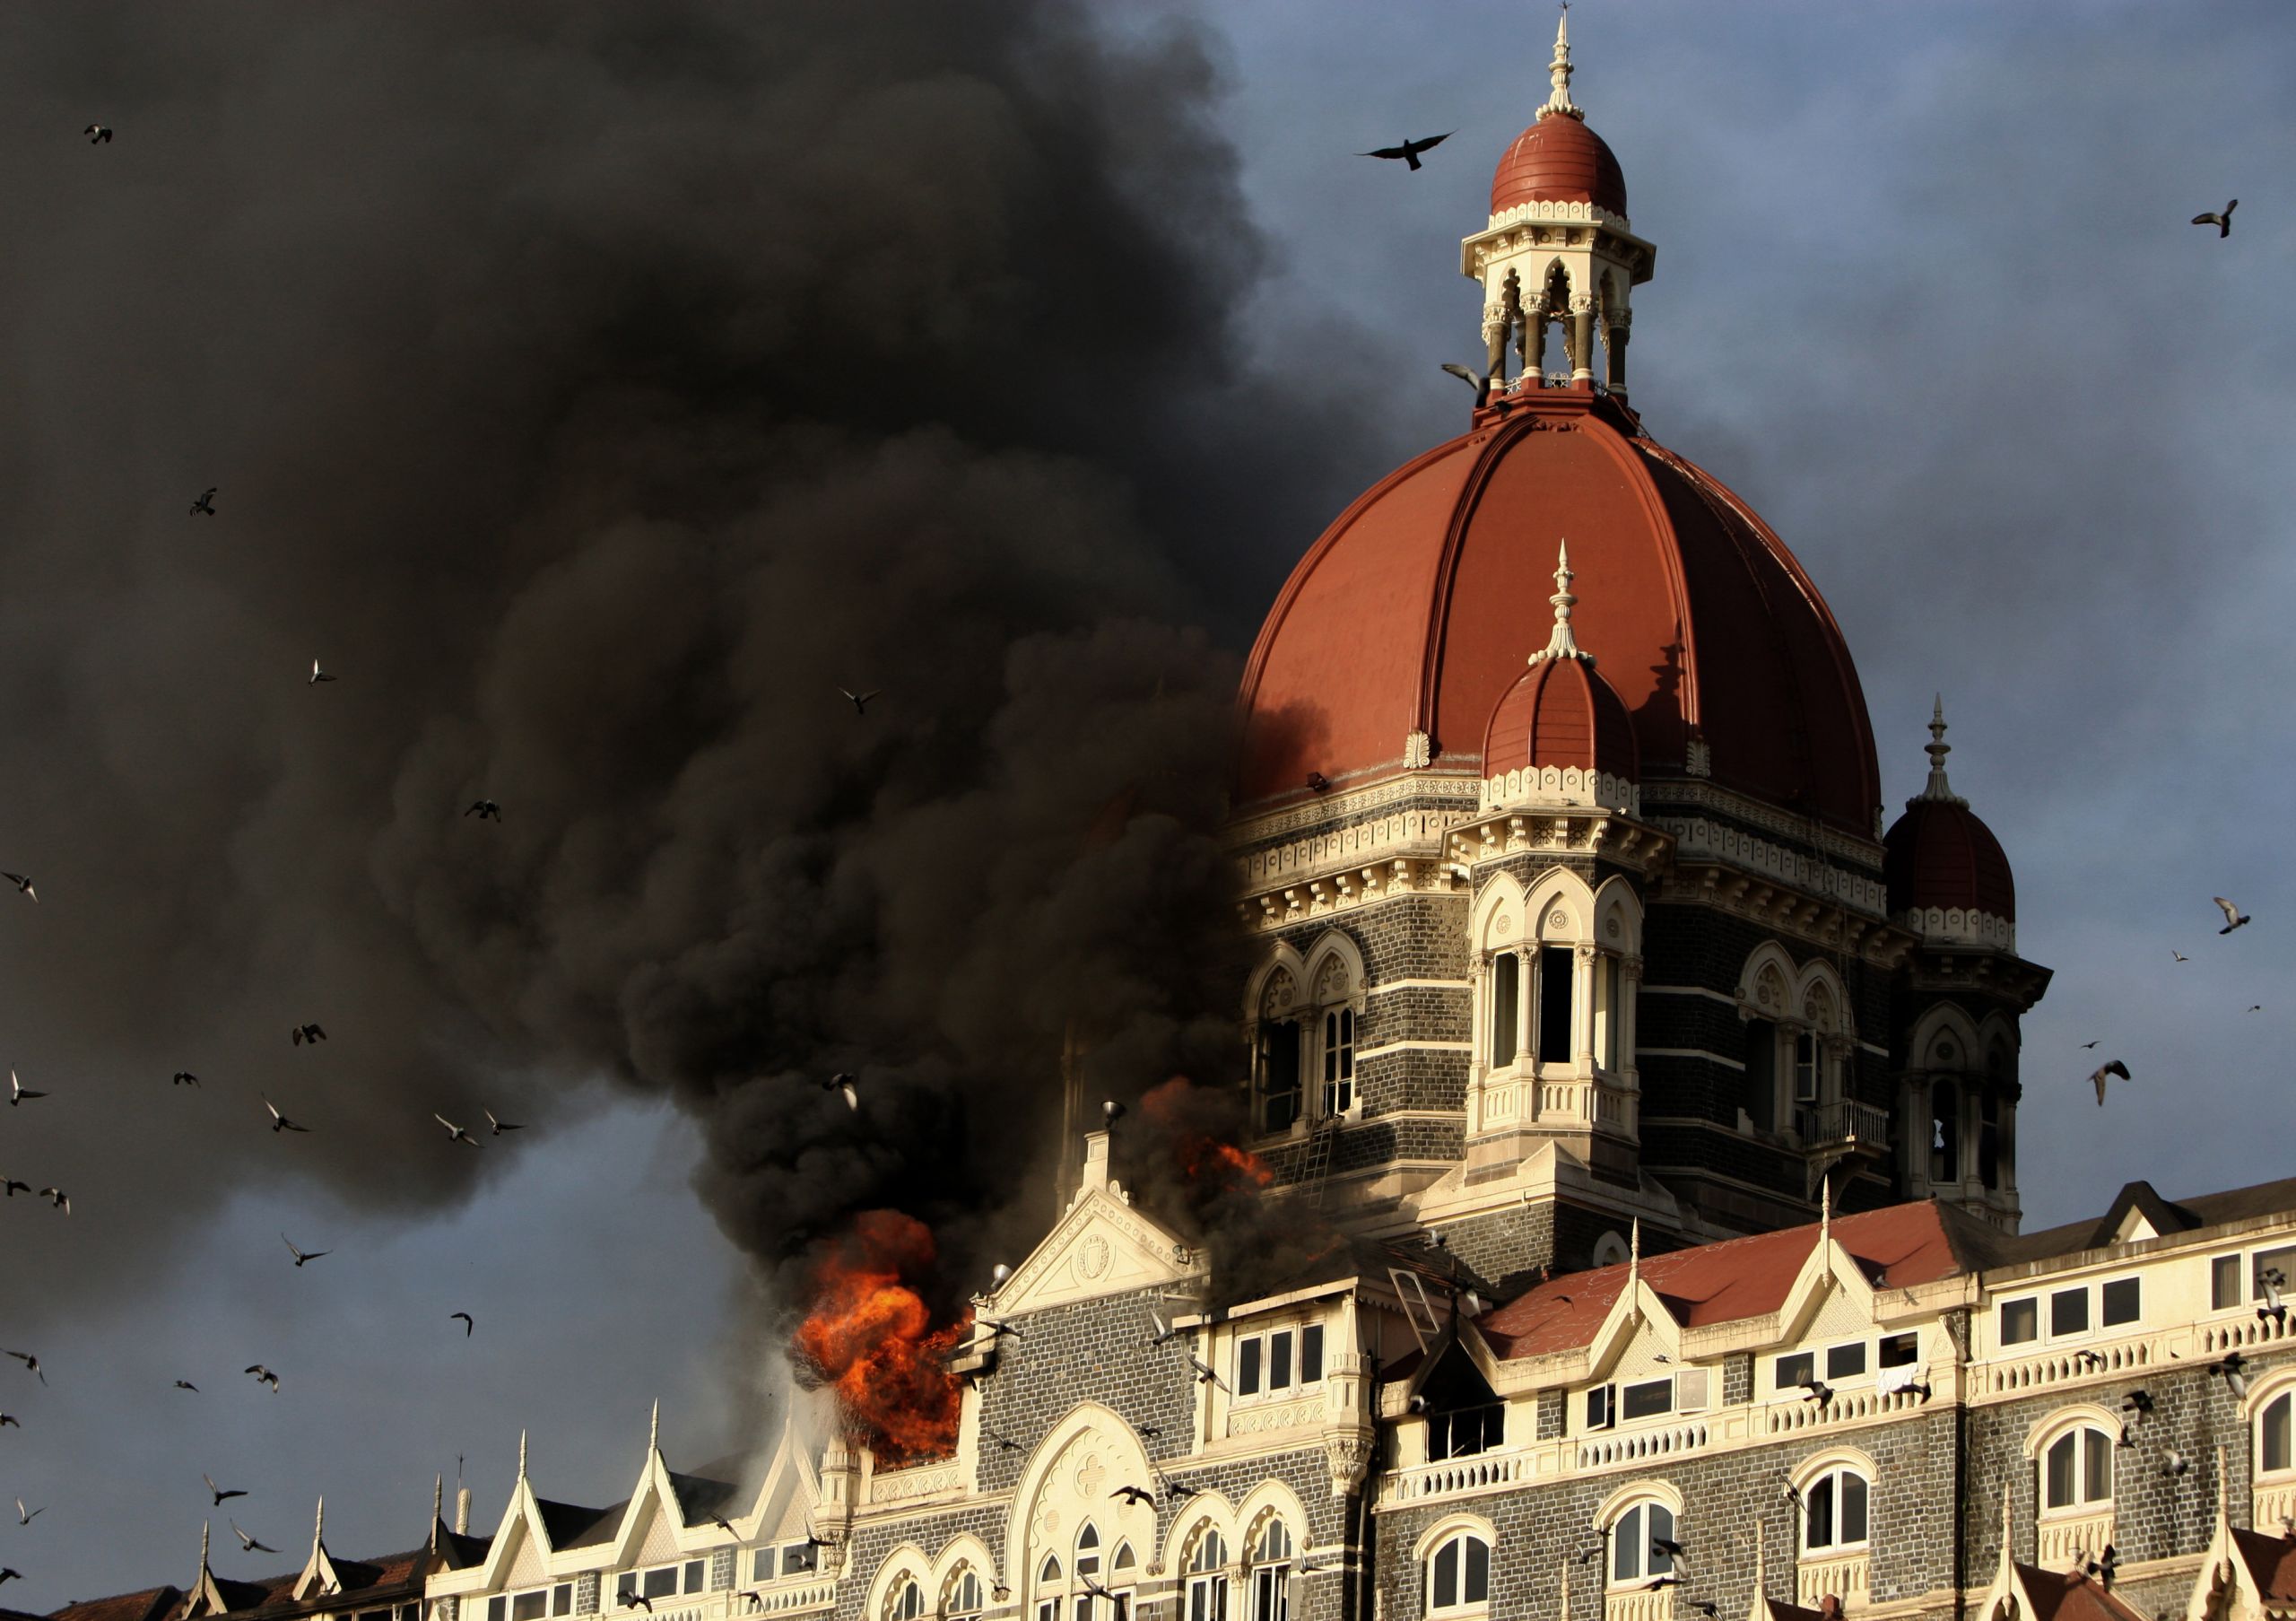
<svg viewBox="0 0 2296 1621">
<path fill-rule="evenodd" d="M 1548 321 L 1564 324 L 1570 386 L 1593 388 L 1593 340 L 1605 342 L 1603 386 L 1626 393 L 1630 289 L 1651 280 L 1655 248 L 1632 234 L 1626 179 L 1603 138 L 1570 99 L 1570 14 L 1554 28 L 1548 101 L 1499 161 L 1490 184 L 1488 225 L 1460 243 L 1458 269 L 1483 287 L 1483 354 L 1492 390 L 1513 331 L 1520 374 L 1513 388 L 1538 388 Z"/>
</svg>

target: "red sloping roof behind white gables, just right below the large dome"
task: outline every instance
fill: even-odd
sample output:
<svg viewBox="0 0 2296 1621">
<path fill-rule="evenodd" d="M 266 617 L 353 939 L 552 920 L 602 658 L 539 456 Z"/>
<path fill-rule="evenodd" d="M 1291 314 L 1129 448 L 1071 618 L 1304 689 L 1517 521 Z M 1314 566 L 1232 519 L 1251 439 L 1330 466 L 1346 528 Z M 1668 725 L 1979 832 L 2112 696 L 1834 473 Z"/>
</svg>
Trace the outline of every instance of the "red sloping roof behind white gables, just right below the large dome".
<svg viewBox="0 0 2296 1621">
<path fill-rule="evenodd" d="M 1885 1272 L 1892 1288 L 1913 1288 L 1975 1270 L 1956 1244 L 1954 1217 L 1924 1199 L 1910 1205 L 1835 1217 L 1835 1240 L 1857 1261 Z M 1731 1238 L 1720 1244 L 1642 1258 L 1642 1279 L 1683 1327 L 1736 1323 L 1777 1311 L 1818 1242 L 1818 1226 Z M 1518 1295 L 1476 1320 L 1492 1352 L 1506 1359 L 1577 1350 L 1593 1341 L 1612 1302 L 1626 1288 L 1626 1265 L 1570 1272 Z"/>
</svg>

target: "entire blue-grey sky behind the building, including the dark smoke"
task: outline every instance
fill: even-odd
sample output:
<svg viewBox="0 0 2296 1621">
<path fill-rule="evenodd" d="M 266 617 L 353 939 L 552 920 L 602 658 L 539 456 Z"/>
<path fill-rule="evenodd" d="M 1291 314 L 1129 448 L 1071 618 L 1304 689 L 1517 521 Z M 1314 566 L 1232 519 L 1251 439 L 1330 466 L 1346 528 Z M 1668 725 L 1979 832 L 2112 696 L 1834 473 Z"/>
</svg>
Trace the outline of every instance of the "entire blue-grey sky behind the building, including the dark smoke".
<svg viewBox="0 0 2296 1621">
<path fill-rule="evenodd" d="M 1107 1047 L 1185 1049 L 1194 987 L 1022 868 L 1185 778 L 1320 521 L 1465 425 L 1456 243 L 1545 96 L 1545 7 L 1139 5 L 1091 14 L 1097 55 L 1006 7 L 636 16 L 0 23 L 0 866 L 41 889 L 0 907 L 0 1056 L 51 1091 L 0 1171 L 73 1192 L 0 1205 L 0 1343 L 48 1371 L 0 1371 L 0 1497 L 46 1504 L 0 1522 L 14 1605 L 184 1582 L 202 1472 L 285 1550 L 218 1518 L 253 1577 L 319 1492 L 335 1550 L 411 1545 L 457 1456 L 491 1522 L 521 1428 L 581 1502 L 657 1396 L 673 1463 L 726 1451 L 769 1281 L 912 1169 L 804 1077 L 859 1068 L 930 1141 L 1058 1031 L 944 1006 L 1015 983 L 992 932 L 1137 969 Z M 1570 16 L 1658 246 L 1644 425 L 1828 595 L 1892 808 L 1942 691 L 2055 969 L 2027 1226 L 2285 1176 L 2296 23 Z M 1444 129 L 1419 174 L 1355 156 Z M 2234 195 L 2229 241 L 2183 223 Z M 850 742 L 845 664 L 898 744 Z M 1162 730 L 1035 776 L 1070 696 Z M 457 815 L 484 792 L 498 829 Z M 1166 799 L 1091 893 L 1201 863 Z M 990 833 L 994 884 L 884 905 Z M 953 932 L 983 889 L 1017 900 Z M 2216 893 L 2255 925 L 2216 937 Z M 2105 1109 L 2087 1040 L 2135 1072 Z M 482 1107 L 526 1130 L 427 1118 Z M 951 1242 L 1017 1261 L 1040 1212 Z"/>
</svg>

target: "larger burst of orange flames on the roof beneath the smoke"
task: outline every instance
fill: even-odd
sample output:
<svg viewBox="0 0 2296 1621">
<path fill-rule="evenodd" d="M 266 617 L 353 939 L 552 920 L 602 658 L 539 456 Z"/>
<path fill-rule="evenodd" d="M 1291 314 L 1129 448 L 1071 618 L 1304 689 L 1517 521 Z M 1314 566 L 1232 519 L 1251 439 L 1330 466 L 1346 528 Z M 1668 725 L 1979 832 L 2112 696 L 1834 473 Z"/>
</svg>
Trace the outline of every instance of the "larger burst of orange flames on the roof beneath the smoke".
<svg viewBox="0 0 2296 1621">
<path fill-rule="evenodd" d="M 813 1311 L 797 1325 L 797 1350 L 838 1391 L 884 1463 L 939 1458 L 957 1444 L 957 1380 L 946 1357 L 971 1313 L 932 1327 L 909 1279 L 932 1272 L 934 1244 L 923 1221 L 898 1210 L 866 1210 L 852 1235 L 822 1256 Z"/>
</svg>

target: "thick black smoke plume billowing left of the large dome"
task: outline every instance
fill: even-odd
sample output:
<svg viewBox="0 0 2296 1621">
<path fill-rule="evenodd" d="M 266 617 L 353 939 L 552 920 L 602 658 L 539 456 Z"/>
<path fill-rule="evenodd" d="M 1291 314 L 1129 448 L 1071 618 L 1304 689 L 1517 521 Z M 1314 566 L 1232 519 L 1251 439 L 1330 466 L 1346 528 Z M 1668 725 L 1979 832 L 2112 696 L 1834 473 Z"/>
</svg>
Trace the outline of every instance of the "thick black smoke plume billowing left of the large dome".
<svg viewBox="0 0 2296 1621">
<path fill-rule="evenodd" d="M 1233 1063 L 1221 647 L 1362 448 L 1240 360 L 1203 39 L 87 7 L 0 57 L 0 1017 L 53 1084 L 0 1169 L 80 1210 L 9 1297 L 234 1185 L 455 1196 L 434 1111 L 595 1075 L 769 1265 L 879 1203 L 964 1258 L 1065 1040 L 1095 1102 Z"/>
</svg>

